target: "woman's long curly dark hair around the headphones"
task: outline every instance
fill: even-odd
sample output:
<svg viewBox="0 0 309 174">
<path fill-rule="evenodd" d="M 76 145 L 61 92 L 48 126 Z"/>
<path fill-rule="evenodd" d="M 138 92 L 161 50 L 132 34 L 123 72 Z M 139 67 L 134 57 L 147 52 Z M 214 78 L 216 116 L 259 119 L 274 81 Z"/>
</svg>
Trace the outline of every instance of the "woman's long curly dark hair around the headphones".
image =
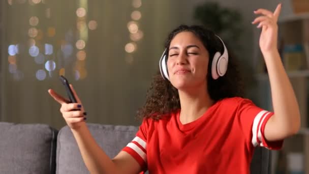
<svg viewBox="0 0 309 174">
<path fill-rule="evenodd" d="M 224 98 L 243 97 L 244 87 L 240 77 L 240 70 L 237 62 L 229 50 L 228 69 L 224 76 L 214 80 L 211 76 L 211 64 L 215 52 L 223 53 L 224 47 L 220 39 L 215 34 L 199 25 L 180 25 L 173 30 L 165 43 L 165 48 L 169 48 L 172 39 L 181 32 L 192 32 L 199 38 L 209 53 L 207 89 L 210 98 L 215 102 Z M 167 55 L 168 55 L 167 49 Z M 177 89 L 170 81 L 165 80 L 160 71 L 153 76 L 150 88 L 146 94 L 146 102 L 137 112 L 138 118 L 152 118 L 160 120 L 163 115 L 180 109 L 180 100 Z"/>
</svg>

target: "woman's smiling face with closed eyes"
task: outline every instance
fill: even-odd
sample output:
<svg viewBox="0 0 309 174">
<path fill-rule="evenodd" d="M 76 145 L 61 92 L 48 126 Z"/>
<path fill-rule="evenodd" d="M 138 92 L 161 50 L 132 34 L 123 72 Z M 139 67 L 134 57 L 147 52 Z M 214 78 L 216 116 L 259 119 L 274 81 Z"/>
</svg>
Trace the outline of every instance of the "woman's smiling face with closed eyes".
<svg viewBox="0 0 309 174">
<path fill-rule="evenodd" d="M 178 33 L 171 41 L 167 68 L 172 85 L 178 90 L 206 85 L 208 51 L 192 32 Z"/>
</svg>

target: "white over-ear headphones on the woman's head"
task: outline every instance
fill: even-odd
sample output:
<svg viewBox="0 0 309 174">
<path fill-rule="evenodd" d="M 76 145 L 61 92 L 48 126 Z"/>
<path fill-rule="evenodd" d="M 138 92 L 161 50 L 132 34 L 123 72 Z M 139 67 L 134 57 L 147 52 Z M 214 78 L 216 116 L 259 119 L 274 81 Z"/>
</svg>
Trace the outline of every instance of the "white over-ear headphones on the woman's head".
<svg viewBox="0 0 309 174">
<path fill-rule="evenodd" d="M 217 36 L 217 35 L 215 35 Z M 219 51 L 217 51 L 212 59 L 212 65 L 211 65 L 211 76 L 213 79 L 218 79 L 220 76 L 224 76 L 227 69 L 228 69 L 228 62 L 229 62 L 229 54 L 228 54 L 228 50 L 224 44 L 224 42 L 222 41 L 222 39 L 217 36 L 220 41 L 223 44 L 224 47 L 224 51 L 223 54 L 221 54 Z M 170 80 L 169 76 L 168 76 L 168 70 L 167 70 L 167 54 L 166 54 L 166 49 L 164 50 L 160 62 L 159 62 L 159 66 L 160 66 L 160 72 L 161 75 L 164 79 Z"/>
</svg>

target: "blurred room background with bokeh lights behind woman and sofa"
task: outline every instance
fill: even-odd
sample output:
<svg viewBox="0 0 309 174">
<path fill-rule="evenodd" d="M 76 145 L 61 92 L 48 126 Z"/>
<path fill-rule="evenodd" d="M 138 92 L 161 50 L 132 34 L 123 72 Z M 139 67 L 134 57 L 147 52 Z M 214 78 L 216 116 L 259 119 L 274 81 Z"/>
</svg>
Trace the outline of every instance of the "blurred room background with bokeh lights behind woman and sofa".
<svg viewBox="0 0 309 174">
<path fill-rule="evenodd" d="M 273 152 L 273 173 L 309 173 L 307 77 L 309 0 L 112 1 L 5 0 L 1 2 L 0 121 L 65 126 L 60 105 L 47 93 L 66 96 L 59 75 L 74 85 L 87 122 L 139 125 L 151 78 L 169 32 L 202 24 L 237 55 L 246 97 L 271 110 L 267 71 L 251 22 L 254 10 L 283 3 L 279 49 L 302 114 L 299 134 Z"/>
</svg>

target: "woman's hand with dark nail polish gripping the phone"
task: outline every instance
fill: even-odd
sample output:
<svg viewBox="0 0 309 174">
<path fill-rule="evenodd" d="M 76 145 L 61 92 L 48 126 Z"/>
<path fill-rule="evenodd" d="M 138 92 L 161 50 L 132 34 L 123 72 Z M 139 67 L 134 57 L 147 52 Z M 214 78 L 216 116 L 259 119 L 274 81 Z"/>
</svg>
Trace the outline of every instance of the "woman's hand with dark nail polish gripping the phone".
<svg viewBox="0 0 309 174">
<path fill-rule="evenodd" d="M 78 129 L 82 124 L 85 124 L 86 112 L 81 104 L 80 99 L 76 95 L 73 85 L 70 84 L 70 88 L 77 100 L 77 103 L 69 103 L 69 100 L 61 97 L 52 89 L 48 90 L 48 93 L 55 101 L 61 104 L 60 112 L 62 113 L 65 121 L 71 129 Z"/>
</svg>

